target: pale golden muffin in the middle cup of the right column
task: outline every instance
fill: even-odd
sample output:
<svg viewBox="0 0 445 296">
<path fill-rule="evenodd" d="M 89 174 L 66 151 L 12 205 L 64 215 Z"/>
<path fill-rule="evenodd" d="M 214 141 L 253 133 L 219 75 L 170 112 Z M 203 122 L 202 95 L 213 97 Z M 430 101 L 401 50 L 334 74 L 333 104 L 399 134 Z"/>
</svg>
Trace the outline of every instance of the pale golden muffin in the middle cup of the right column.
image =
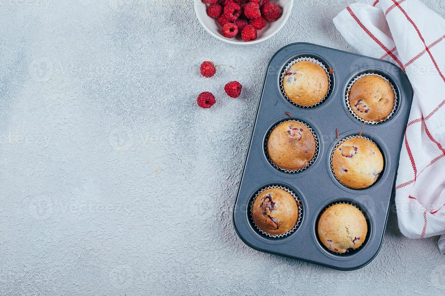
<svg viewBox="0 0 445 296">
<path fill-rule="evenodd" d="M 350 138 L 334 150 L 332 169 L 343 185 L 354 189 L 367 188 L 376 182 L 383 170 L 383 156 L 371 141 Z"/>
</svg>

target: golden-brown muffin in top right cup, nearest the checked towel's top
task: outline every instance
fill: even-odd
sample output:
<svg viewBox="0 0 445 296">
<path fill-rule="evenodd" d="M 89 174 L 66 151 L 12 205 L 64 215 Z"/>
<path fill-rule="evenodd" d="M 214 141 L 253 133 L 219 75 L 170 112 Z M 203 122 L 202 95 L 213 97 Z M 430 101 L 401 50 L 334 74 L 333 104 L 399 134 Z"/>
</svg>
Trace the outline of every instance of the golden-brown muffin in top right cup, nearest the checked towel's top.
<svg viewBox="0 0 445 296">
<path fill-rule="evenodd" d="M 358 79 L 349 90 L 349 105 L 360 118 L 380 122 L 394 107 L 391 83 L 376 75 Z"/>
</svg>

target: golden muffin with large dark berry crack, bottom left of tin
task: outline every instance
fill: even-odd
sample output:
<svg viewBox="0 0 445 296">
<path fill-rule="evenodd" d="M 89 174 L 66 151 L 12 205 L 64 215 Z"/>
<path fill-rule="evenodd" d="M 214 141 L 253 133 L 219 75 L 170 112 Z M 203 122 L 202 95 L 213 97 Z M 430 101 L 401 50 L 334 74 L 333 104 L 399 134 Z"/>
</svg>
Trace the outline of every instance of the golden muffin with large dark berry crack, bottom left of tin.
<svg viewBox="0 0 445 296">
<path fill-rule="evenodd" d="M 279 188 L 266 189 L 255 198 L 252 216 L 265 233 L 283 234 L 294 228 L 298 205 L 291 193 Z"/>
</svg>

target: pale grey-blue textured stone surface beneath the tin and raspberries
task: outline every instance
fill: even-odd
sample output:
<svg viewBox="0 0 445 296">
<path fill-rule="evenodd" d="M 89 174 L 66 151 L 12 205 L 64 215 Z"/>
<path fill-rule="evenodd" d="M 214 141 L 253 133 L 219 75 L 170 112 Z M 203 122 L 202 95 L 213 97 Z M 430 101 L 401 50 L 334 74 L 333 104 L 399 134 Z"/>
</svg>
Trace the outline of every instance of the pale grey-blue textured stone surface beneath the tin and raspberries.
<svg viewBox="0 0 445 296">
<path fill-rule="evenodd" d="M 0 295 L 443 295 L 437 237 L 403 237 L 394 212 L 353 272 L 254 251 L 232 226 L 268 60 L 298 41 L 351 51 L 332 18 L 352 1 L 297 1 L 250 47 L 207 34 L 192 2 L 0 1 Z M 204 60 L 236 69 L 204 79 Z"/>
</svg>

